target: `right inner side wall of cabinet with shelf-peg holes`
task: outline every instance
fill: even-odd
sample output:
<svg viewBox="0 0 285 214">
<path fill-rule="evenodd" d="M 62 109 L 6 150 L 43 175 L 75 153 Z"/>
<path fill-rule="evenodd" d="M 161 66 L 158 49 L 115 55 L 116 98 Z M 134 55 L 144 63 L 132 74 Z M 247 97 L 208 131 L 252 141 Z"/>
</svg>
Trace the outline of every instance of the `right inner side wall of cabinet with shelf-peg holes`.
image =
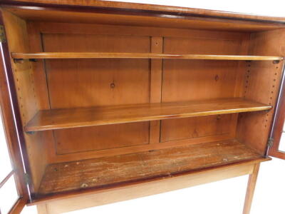
<svg viewBox="0 0 285 214">
<path fill-rule="evenodd" d="M 259 56 L 285 56 L 285 31 L 265 31 L 251 35 L 249 54 Z M 283 61 L 252 61 L 247 63 L 244 76 L 244 98 L 266 103 L 273 108 L 259 113 L 242 113 L 239 116 L 237 138 L 264 154 L 271 121 L 278 96 Z"/>
</svg>

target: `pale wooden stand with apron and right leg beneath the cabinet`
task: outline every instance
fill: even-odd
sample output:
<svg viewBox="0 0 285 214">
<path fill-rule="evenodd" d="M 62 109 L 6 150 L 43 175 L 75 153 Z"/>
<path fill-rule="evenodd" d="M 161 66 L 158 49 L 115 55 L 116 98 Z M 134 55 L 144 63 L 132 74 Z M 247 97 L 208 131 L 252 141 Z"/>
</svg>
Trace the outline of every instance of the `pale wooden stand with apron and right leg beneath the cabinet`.
<svg viewBox="0 0 285 214">
<path fill-rule="evenodd" d="M 179 175 L 177 177 L 165 178 L 162 180 L 153 180 L 150 182 L 125 185 L 107 190 L 99 190 L 95 193 L 68 195 L 62 199 L 50 198 L 49 200 L 37 203 L 38 214 L 65 213 L 73 210 L 140 198 L 147 195 L 165 193 L 171 190 L 187 188 L 227 178 L 234 178 L 241 175 L 249 175 L 249 185 L 244 203 L 244 214 L 248 214 L 257 180 L 259 163 L 267 160 L 268 159 L 266 158 L 261 158 L 256 161 L 236 163 L 208 170 L 199 170 L 190 174 Z"/>
</svg>

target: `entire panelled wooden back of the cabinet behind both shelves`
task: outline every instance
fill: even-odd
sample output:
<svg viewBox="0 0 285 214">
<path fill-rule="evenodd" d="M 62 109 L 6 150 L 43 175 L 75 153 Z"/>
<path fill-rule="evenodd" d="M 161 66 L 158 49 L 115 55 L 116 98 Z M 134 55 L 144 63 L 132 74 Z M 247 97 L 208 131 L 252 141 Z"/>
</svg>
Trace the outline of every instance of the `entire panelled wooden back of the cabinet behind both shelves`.
<svg viewBox="0 0 285 214">
<path fill-rule="evenodd" d="M 46 52 L 242 55 L 247 54 L 249 36 L 226 31 L 33 21 L 28 26 L 34 44 L 31 50 Z M 204 42 L 207 46 L 202 45 Z M 243 80 L 237 78 L 241 74 L 237 71 L 244 70 L 237 61 L 119 58 L 53 59 L 45 64 L 37 61 L 34 68 L 37 91 L 48 91 L 48 97 L 40 101 L 42 109 L 232 97 Z M 44 89 L 46 83 L 48 89 Z M 226 140 L 234 137 L 236 125 L 237 114 L 231 114 L 51 131 L 49 157 L 52 162 L 74 161 Z"/>
</svg>

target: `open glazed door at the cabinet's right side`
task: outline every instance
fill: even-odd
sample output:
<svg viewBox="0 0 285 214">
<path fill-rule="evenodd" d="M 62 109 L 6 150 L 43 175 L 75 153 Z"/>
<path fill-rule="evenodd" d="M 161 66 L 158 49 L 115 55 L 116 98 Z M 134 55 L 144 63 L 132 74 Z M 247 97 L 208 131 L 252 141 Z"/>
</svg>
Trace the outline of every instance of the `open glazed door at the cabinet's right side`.
<svg viewBox="0 0 285 214">
<path fill-rule="evenodd" d="M 279 91 L 278 103 L 276 105 L 274 121 L 272 123 L 271 135 L 269 138 L 269 156 L 285 159 L 285 73 Z"/>
</svg>

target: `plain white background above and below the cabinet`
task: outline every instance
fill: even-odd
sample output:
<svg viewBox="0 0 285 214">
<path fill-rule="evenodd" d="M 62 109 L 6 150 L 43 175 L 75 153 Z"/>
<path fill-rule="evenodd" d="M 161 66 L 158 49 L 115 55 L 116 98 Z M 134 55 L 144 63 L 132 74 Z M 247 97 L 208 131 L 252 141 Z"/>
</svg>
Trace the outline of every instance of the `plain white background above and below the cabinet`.
<svg viewBox="0 0 285 214">
<path fill-rule="evenodd" d="M 247 14 L 267 16 L 285 16 L 283 1 L 128 1 L 145 4 L 163 4 L 170 6 L 186 6 L 200 9 L 233 11 Z M 285 42 L 285 41 L 284 41 Z M 247 187 L 247 176 L 222 180 L 215 183 L 199 185 L 193 188 L 176 190 L 170 193 L 152 195 L 145 198 L 128 200 L 121 203 L 103 205 L 72 213 L 105 214 L 105 213 L 194 213 L 194 214 L 240 214 Z M 285 194 L 285 161 L 274 159 L 261 164 L 257 189 L 252 205 L 252 214 L 284 214 Z M 23 214 L 36 214 L 35 207 L 25 208 Z"/>
</svg>

